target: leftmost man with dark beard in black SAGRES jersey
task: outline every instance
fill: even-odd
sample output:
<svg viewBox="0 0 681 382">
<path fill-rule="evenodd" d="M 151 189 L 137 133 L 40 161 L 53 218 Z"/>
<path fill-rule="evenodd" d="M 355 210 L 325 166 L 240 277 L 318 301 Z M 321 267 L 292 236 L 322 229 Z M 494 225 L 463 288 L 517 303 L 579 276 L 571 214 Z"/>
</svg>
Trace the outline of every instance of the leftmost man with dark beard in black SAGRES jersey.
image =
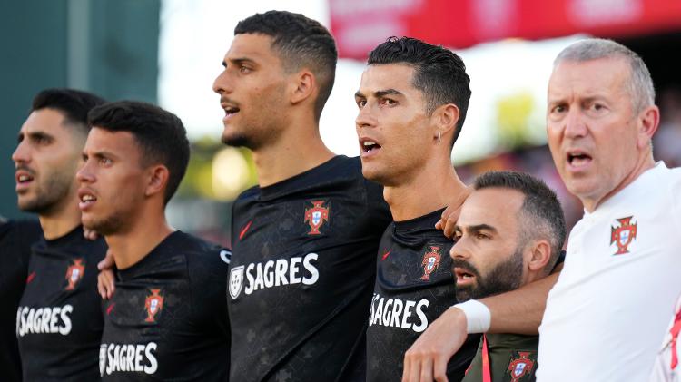
<svg viewBox="0 0 681 382">
<path fill-rule="evenodd" d="M 38 93 L 12 154 L 19 209 L 38 214 L 44 235 L 33 246 L 15 310 L 25 380 L 98 377 L 104 323 L 94 291 L 106 245 L 84 238 L 75 171 L 82 164 L 87 113 L 101 103 L 94 94 L 69 89 Z"/>
</svg>

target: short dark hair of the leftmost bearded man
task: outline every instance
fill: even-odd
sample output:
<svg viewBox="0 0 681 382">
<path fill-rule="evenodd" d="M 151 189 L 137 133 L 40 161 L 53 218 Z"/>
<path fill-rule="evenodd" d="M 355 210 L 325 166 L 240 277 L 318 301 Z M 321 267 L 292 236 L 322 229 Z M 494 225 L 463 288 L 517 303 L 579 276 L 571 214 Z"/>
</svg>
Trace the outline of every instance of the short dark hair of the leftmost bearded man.
<svg viewBox="0 0 681 382">
<path fill-rule="evenodd" d="M 64 121 L 74 124 L 87 134 L 87 113 L 95 106 L 105 103 L 93 93 L 75 89 L 45 89 L 37 93 L 31 104 L 31 113 L 41 109 L 54 109 L 64 114 Z"/>
</svg>

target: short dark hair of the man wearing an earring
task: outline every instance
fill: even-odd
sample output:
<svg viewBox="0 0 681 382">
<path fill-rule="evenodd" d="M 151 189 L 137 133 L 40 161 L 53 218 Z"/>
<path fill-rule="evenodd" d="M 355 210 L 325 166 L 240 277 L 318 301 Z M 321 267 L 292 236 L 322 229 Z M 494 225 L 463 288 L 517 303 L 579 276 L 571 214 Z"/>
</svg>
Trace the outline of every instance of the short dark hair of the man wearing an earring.
<svg viewBox="0 0 681 382">
<path fill-rule="evenodd" d="M 412 84 L 425 95 L 428 114 L 446 103 L 457 105 L 459 121 L 451 141 L 451 145 L 454 145 L 466 120 L 470 100 L 470 77 L 458 54 L 416 38 L 392 36 L 369 53 L 367 64 L 413 66 Z"/>
</svg>

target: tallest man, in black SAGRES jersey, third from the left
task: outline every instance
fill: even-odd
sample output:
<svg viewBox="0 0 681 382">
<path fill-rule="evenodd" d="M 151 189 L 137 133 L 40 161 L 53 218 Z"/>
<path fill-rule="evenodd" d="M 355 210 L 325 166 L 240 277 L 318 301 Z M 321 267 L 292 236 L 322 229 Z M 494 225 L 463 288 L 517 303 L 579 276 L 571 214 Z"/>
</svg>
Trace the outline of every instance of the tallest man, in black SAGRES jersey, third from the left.
<svg viewBox="0 0 681 382">
<path fill-rule="evenodd" d="M 363 380 L 366 316 L 390 220 L 358 158 L 321 142 L 331 34 L 303 15 L 242 20 L 213 90 L 222 142 L 252 151 L 258 186 L 234 201 L 229 313 L 235 381 Z"/>
</svg>

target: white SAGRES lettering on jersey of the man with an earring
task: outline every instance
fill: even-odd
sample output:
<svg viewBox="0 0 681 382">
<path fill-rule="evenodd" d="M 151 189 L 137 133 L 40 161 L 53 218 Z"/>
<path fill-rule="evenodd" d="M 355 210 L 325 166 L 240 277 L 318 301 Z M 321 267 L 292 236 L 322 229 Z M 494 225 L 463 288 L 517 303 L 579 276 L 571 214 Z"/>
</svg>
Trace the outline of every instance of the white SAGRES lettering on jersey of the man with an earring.
<svg viewBox="0 0 681 382">
<path fill-rule="evenodd" d="M 369 314 L 369 326 L 405 328 L 417 333 L 428 328 L 426 309 L 429 300 L 385 299 L 378 293 L 373 294 Z"/>
</svg>

